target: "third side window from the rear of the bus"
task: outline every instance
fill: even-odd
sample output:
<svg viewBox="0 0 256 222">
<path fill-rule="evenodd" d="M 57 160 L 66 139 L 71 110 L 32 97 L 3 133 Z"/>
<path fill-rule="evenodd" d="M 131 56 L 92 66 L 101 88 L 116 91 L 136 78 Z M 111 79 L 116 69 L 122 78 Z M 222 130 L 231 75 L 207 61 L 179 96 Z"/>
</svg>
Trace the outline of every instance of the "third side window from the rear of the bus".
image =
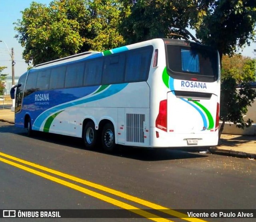
<svg viewBox="0 0 256 222">
<path fill-rule="evenodd" d="M 102 77 L 103 59 L 94 59 L 85 63 L 84 85 L 100 85 Z"/>
</svg>

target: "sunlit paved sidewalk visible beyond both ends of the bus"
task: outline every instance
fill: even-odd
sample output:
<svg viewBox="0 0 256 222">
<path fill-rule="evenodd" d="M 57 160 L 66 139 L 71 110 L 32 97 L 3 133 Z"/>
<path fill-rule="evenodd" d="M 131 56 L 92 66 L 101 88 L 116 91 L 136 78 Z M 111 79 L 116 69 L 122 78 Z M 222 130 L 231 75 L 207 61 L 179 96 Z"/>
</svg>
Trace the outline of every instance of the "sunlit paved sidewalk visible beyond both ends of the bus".
<svg viewBox="0 0 256 222">
<path fill-rule="evenodd" d="M 0 108 L 0 121 L 14 123 L 14 112 Z M 199 147 L 198 150 L 206 151 Z M 213 154 L 256 159 L 256 137 L 222 134 L 219 145 L 210 147 L 208 151 Z"/>
</svg>

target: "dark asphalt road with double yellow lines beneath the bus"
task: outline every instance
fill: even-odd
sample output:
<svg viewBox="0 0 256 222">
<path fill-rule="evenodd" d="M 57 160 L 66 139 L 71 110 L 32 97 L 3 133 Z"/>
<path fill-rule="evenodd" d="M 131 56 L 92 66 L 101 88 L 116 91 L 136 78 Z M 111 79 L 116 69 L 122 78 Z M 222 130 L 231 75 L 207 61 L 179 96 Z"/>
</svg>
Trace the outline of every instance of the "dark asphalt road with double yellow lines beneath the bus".
<svg viewBox="0 0 256 222">
<path fill-rule="evenodd" d="M 30 138 L 24 129 L 0 122 L 0 209 L 170 208 L 175 210 L 165 218 L 184 221 L 172 218 L 178 209 L 256 209 L 255 172 L 256 161 L 249 159 L 128 147 L 110 155 L 84 149 L 81 139 L 44 133 Z M 137 218 L 144 210 L 132 215 L 1 221 L 150 221 Z"/>
</svg>

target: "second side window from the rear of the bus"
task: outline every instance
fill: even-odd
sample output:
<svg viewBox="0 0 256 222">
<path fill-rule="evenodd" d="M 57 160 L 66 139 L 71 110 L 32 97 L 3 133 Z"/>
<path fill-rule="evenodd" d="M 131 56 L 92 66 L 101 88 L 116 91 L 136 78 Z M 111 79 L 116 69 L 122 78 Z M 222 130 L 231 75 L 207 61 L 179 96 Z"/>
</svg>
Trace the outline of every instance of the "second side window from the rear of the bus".
<svg viewBox="0 0 256 222">
<path fill-rule="evenodd" d="M 125 54 L 105 57 L 102 85 L 122 83 L 124 81 Z"/>
</svg>

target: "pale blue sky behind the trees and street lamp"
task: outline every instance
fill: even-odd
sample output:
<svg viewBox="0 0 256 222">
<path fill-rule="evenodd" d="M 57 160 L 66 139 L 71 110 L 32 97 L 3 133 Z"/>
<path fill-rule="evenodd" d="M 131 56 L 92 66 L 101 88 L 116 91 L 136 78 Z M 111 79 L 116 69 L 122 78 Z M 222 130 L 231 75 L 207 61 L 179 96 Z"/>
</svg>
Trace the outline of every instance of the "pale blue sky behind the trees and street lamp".
<svg viewBox="0 0 256 222">
<path fill-rule="evenodd" d="M 34 0 L 47 6 L 52 0 Z M 0 66 L 6 66 L 2 73 L 12 75 L 12 62 L 9 52 L 14 48 L 14 75 L 20 76 L 26 72 L 28 65 L 22 59 L 23 48 L 14 36 L 14 22 L 21 19 L 21 11 L 29 8 L 32 0 L 0 0 Z M 4 44 L 4 42 L 6 44 Z M 8 49 L 7 49 L 8 48 Z M 252 53 L 256 49 L 256 43 L 252 43 L 250 47 L 246 47 L 241 53 L 244 56 L 254 58 Z M 9 50 L 9 52 L 8 52 Z"/>
</svg>

